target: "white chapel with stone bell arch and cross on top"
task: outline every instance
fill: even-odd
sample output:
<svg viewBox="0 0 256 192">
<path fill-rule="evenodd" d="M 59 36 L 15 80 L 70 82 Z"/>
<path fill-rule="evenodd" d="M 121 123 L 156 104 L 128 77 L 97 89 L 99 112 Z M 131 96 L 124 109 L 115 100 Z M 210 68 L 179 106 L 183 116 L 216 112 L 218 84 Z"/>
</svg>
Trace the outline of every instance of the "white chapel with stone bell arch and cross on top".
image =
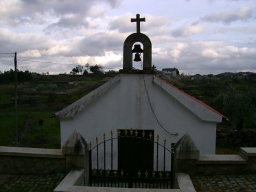
<svg viewBox="0 0 256 192">
<path fill-rule="evenodd" d="M 96 144 L 96 138 L 101 142 L 103 134 L 104 139 L 109 139 L 121 132 L 142 132 L 161 145 L 169 146 L 188 133 L 200 154 L 215 154 L 216 124 L 223 116 L 154 75 L 151 41 L 140 32 L 140 22 L 145 18 L 137 14 L 131 21 L 137 23 L 137 32 L 124 41 L 123 69 L 119 75 L 56 112 L 60 119 L 61 145 L 74 131 L 91 145 Z M 136 43 L 141 43 L 143 48 Z M 133 55 L 135 61 L 142 59 L 142 70 L 132 68 Z M 114 150 L 114 157 L 123 150 L 118 145 L 114 143 L 113 148 L 118 148 Z"/>
</svg>

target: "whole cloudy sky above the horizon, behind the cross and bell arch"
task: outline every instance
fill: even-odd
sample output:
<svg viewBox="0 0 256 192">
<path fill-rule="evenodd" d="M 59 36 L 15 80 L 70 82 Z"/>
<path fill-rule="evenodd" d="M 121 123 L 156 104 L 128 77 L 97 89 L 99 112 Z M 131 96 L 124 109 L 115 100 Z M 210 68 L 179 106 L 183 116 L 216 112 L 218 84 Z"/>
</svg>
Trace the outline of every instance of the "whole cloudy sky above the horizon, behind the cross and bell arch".
<svg viewBox="0 0 256 192">
<path fill-rule="evenodd" d="M 138 13 L 157 69 L 256 72 L 255 0 L 1 0 L 0 53 L 16 51 L 22 71 L 69 73 L 86 63 L 121 69 Z M 0 71 L 11 68 L 13 55 L 0 54 Z"/>
</svg>

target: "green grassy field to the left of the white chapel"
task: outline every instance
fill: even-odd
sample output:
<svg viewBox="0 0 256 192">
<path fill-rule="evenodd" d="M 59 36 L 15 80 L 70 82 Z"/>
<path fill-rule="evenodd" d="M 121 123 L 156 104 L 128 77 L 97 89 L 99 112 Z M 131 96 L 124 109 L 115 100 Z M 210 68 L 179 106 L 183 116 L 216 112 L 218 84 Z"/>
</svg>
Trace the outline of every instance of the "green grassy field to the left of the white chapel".
<svg viewBox="0 0 256 192">
<path fill-rule="evenodd" d="M 18 85 L 19 147 L 60 148 L 60 121 L 50 116 L 104 83 L 103 77 L 65 76 L 74 84 L 58 84 L 54 75 L 45 76 Z M 0 90 L 0 145 L 16 146 L 14 84 L 0 84 Z"/>
</svg>

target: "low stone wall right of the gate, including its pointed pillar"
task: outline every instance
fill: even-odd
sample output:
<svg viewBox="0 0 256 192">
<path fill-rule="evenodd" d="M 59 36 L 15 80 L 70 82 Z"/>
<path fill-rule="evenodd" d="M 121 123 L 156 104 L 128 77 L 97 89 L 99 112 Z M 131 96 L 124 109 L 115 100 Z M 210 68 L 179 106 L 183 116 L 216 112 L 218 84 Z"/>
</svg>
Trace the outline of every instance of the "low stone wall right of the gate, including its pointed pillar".
<svg viewBox="0 0 256 192">
<path fill-rule="evenodd" d="M 191 176 L 256 173 L 256 147 L 242 147 L 234 155 L 200 155 L 189 134 L 185 134 L 175 148 L 175 172 Z"/>
</svg>

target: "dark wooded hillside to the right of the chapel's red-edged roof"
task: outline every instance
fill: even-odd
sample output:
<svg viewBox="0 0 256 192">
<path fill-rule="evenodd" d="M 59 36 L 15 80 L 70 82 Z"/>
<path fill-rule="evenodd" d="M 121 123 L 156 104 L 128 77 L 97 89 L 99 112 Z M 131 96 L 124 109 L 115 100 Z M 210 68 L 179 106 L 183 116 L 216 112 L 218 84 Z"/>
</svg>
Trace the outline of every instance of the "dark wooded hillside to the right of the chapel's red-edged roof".
<svg viewBox="0 0 256 192">
<path fill-rule="evenodd" d="M 161 77 L 226 116 L 226 121 L 220 123 L 218 128 L 256 129 L 255 73 L 205 75 L 202 80 L 196 81 L 184 76 Z"/>
</svg>

